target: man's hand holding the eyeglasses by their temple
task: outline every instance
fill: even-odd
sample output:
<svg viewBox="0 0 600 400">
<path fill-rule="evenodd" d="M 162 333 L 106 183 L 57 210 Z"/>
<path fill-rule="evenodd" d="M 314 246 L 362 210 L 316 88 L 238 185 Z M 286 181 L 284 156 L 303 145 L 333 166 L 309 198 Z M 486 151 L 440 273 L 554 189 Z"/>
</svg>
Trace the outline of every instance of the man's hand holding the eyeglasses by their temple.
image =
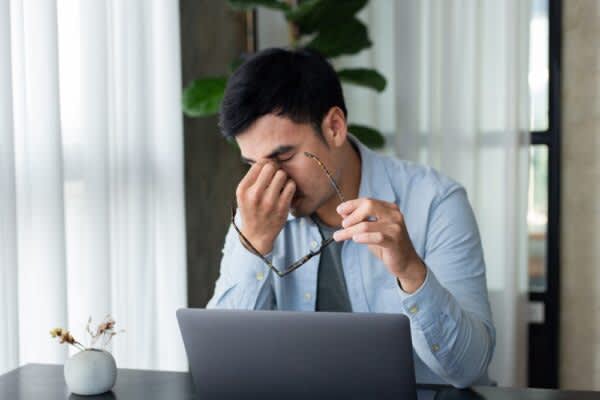
<svg viewBox="0 0 600 400">
<path fill-rule="evenodd" d="M 340 204 L 337 212 L 343 218 L 344 229 L 334 234 L 336 241 L 353 240 L 368 245 L 405 292 L 412 293 L 423 284 L 427 269 L 412 245 L 404 216 L 396 204 L 360 198 Z"/>
</svg>

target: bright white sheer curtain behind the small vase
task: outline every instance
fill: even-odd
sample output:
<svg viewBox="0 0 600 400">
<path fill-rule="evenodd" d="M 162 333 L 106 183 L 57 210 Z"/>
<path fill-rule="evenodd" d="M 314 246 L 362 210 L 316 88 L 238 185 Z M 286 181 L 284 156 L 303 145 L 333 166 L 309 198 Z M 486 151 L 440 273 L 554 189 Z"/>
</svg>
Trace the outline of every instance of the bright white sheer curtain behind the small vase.
<svg viewBox="0 0 600 400">
<path fill-rule="evenodd" d="M 122 368 L 186 370 L 176 0 L 0 0 L 0 373 L 89 316 Z"/>
</svg>

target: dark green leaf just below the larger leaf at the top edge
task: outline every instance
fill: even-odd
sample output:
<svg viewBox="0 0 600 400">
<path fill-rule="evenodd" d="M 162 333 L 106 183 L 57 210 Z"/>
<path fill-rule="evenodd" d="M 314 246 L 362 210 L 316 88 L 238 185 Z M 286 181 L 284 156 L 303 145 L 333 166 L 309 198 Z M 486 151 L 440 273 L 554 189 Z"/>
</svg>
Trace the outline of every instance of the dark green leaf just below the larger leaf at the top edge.
<svg viewBox="0 0 600 400">
<path fill-rule="evenodd" d="M 356 54 L 371 47 L 371 44 L 367 27 L 353 18 L 343 25 L 330 25 L 322 29 L 306 47 L 333 58 L 342 54 Z"/>
</svg>

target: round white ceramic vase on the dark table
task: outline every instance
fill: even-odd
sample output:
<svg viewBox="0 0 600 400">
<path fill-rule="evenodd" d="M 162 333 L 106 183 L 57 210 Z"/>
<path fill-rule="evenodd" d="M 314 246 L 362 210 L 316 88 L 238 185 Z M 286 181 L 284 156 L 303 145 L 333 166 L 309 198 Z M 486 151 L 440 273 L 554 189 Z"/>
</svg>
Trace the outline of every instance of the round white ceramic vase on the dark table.
<svg viewBox="0 0 600 400">
<path fill-rule="evenodd" d="M 112 354 L 100 349 L 86 349 L 65 362 L 65 381 L 69 390 L 79 395 L 96 395 L 113 388 L 117 380 L 117 363 Z"/>
</svg>

